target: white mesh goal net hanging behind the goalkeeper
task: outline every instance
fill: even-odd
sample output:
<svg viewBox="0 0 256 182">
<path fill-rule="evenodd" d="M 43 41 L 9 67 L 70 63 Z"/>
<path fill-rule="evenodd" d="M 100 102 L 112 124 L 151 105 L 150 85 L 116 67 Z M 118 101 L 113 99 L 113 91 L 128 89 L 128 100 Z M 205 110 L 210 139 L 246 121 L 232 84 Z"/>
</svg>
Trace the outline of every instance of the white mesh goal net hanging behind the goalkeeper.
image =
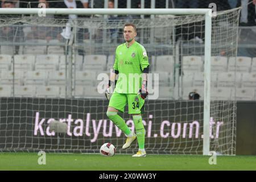
<svg viewBox="0 0 256 182">
<path fill-rule="evenodd" d="M 239 14 L 212 17 L 209 149 L 223 155 L 236 154 L 236 61 L 232 71 L 228 61 Z M 1 14 L 0 22 L 0 151 L 97 153 L 110 142 L 118 154 L 137 152 L 137 142 L 121 149 L 126 137 L 106 116 L 103 93 L 130 22 L 150 62 L 147 153 L 203 154 L 205 15 Z M 119 114 L 134 131 L 127 107 Z M 52 121 L 67 123 L 67 133 L 51 131 Z"/>
</svg>

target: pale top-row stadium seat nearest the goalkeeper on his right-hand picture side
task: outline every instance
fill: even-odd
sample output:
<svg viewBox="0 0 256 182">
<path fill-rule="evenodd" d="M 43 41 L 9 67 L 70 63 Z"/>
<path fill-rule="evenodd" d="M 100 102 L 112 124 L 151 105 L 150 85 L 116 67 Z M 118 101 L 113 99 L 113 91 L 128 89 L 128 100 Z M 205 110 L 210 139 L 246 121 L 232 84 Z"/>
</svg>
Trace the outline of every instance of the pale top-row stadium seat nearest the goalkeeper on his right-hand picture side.
<svg viewBox="0 0 256 182">
<path fill-rule="evenodd" d="M 156 56 L 155 71 L 173 73 L 174 64 L 174 56 L 172 55 Z"/>
</svg>

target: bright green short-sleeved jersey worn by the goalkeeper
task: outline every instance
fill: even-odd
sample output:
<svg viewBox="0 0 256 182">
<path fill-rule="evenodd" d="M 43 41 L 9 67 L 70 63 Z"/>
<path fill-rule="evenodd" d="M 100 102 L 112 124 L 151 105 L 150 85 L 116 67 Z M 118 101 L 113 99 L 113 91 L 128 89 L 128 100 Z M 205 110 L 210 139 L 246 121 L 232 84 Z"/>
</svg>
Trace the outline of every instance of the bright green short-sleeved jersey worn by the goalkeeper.
<svg viewBox="0 0 256 182">
<path fill-rule="evenodd" d="M 137 94 L 141 88 L 143 69 L 148 66 L 147 52 L 141 44 L 134 42 L 129 48 L 126 43 L 119 45 L 113 67 L 119 72 L 115 92 Z"/>
</svg>

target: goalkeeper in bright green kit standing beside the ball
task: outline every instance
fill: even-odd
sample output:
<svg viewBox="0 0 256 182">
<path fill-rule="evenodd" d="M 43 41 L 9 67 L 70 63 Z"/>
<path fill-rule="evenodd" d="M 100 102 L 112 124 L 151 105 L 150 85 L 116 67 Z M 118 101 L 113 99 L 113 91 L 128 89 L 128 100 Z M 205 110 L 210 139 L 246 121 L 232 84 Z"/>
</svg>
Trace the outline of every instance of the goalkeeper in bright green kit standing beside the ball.
<svg viewBox="0 0 256 182">
<path fill-rule="evenodd" d="M 123 27 L 123 36 L 126 43 L 123 43 L 115 50 L 115 63 L 113 71 L 110 73 L 106 97 L 109 100 L 110 86 L 115 83 L 115 76 L 118 75 L 117 84 L 109 101 L 106 115 L 114 122 L 119 129 L 127 136 L 122 148 L 130 147 L 137 138 L 139 151 L 134 157 L 146 156 L 144 150 L 145 130 L 142 123 L 144 110 L 144 99 L 147 97 L 147 73 L 148 57 L 144 47 L 135 41 L 137 30 L 134 24 L 127 23 Z M 128 104 L 129 114 L 133 115 L 136 134 L 126 125 L 123 118 L 117 113 L 125 110 Z"/>
</svg>

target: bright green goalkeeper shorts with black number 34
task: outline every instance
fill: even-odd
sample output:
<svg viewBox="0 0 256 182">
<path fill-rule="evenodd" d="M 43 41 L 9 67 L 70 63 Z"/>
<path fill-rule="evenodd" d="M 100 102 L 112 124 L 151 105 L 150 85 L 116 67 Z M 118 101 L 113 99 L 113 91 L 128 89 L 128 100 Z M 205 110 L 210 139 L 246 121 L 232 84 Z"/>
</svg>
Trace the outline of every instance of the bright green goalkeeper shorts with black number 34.
<svg viewBox="0 0 256 182">
<path fill-rule="evenodd" d="M 138 94 L 123 94 L 114 92 L 109 101 L 109 107 L 125 111 L 125 106 L 128 104 L 129 114 L 143 114 L 145 101 Z"/>
</svg>

